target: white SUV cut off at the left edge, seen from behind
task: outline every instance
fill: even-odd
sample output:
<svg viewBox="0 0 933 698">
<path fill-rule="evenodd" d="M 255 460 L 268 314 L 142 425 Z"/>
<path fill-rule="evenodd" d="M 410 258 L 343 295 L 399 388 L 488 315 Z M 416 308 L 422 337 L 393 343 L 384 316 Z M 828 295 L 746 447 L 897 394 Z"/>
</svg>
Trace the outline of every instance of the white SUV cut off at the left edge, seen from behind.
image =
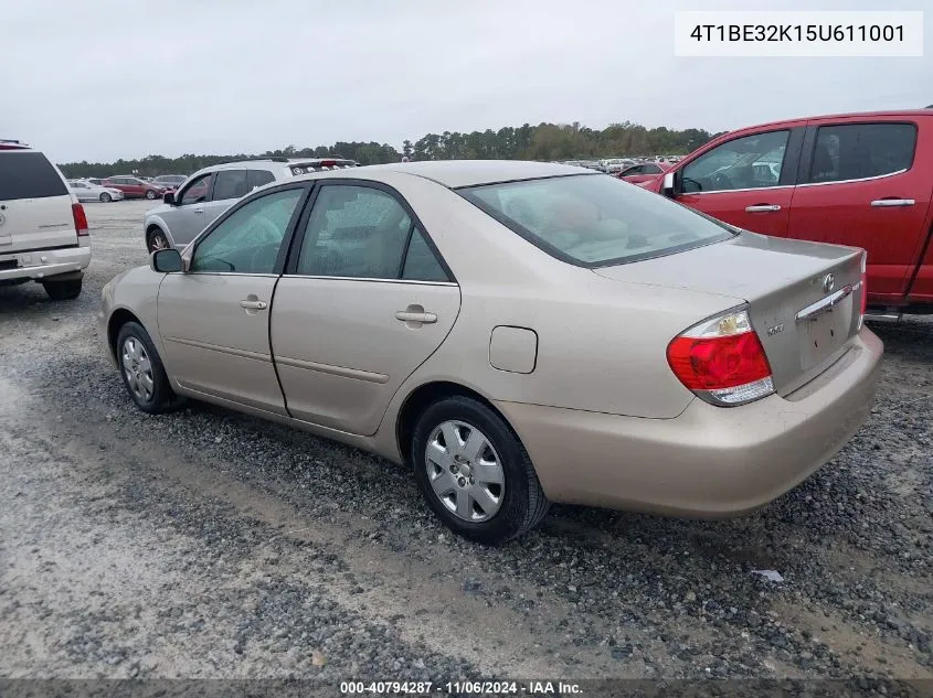
<svg viewBox="0 0 933 698">
<path fill-rule="evenodd" d="M 53 300 L 68 300 L 89 264 L 87 216 L 59 168 L 24 143 L 0 140 L 0 284 L 33 280 Z"/>
</svg>

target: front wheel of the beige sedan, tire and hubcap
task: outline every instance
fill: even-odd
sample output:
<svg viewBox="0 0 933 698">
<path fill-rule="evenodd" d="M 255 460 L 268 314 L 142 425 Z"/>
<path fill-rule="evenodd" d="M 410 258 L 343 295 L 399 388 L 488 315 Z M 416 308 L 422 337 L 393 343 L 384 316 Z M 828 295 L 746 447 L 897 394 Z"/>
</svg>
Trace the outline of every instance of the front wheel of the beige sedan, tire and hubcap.
<svg viewBox="0 0 933 698">
<path fill-rule="evenodd" d="M 127 322 L 120 327 L 115 354 L 124 385 L 139 409 L 159 415 L 179 405 L 159 352 L 142 325 Z"/>
</svg>

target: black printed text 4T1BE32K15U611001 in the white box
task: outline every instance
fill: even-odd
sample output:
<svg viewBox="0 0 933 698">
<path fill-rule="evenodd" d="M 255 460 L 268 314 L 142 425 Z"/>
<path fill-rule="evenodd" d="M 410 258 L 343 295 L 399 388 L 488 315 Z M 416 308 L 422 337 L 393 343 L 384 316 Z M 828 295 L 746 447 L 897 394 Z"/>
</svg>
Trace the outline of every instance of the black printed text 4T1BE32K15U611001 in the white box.
<svg viewBox="0 0 933 698">
<path fill-rule="evenodd" d="M 696 41 L 901 42 L 903 24 L 697 24 Z"/>
</svg>

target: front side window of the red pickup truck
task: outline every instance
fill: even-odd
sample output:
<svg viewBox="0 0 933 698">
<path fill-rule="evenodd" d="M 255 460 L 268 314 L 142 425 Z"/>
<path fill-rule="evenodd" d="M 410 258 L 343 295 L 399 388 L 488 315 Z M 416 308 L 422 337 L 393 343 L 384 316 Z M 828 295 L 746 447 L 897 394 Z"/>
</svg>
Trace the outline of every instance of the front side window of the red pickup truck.
<svg viewBox="0 0 933 698">
<path fill-rule="evenodd" d="M 744 136 L 717 146 L 683 168 L 683 192 L 776 186 L 791 131 Z"/>
</svg>

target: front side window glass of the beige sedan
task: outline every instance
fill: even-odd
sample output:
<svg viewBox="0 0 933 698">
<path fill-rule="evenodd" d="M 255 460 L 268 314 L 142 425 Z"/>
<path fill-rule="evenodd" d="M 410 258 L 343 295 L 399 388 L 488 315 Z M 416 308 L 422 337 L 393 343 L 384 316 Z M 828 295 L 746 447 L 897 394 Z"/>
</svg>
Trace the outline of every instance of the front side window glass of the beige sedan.
<svg viewBox="0 0 933 698">
<path fill-rule="evenodd" d="M 198 244 L 189 270 L 273 273 L 303 193 L 303 189 L 274 192 L 234 211 Z"/>
</svg>

